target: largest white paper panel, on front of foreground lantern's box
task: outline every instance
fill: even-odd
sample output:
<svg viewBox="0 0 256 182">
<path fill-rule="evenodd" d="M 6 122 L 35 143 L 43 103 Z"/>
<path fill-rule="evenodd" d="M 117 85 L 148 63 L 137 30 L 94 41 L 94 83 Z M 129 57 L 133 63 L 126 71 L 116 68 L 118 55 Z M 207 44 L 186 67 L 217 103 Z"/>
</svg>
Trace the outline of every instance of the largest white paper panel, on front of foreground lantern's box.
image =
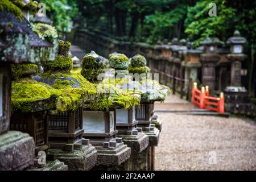
<svg viewBox="0 0 256 182">
<path fill-rule="evenodd" d="M 105 133 L 104 111 L 83 111 L 84 131 L 88 133 Z"/>
</svg>

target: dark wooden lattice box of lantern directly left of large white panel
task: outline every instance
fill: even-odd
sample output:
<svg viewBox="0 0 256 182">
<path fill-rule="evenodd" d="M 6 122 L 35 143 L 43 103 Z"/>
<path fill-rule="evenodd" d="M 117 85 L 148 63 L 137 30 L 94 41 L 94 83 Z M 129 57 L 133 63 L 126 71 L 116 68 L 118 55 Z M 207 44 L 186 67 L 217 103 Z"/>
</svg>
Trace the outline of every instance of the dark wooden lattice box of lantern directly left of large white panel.
<svg viewBox="0 0 256 182">
<path fill-rule="evenodd" d="M 51 148 L 73 151 L 82 148 L 82 107 L 47 115 Z"/>
</svg>

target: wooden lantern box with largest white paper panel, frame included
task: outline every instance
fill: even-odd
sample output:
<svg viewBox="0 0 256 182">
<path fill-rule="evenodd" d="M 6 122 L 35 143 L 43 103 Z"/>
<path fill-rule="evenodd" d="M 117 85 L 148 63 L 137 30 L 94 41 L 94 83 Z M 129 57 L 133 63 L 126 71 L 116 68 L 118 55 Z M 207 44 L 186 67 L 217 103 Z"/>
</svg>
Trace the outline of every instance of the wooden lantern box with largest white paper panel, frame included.
<svg viewBox="0 0 256 182">
<path fill-rule="evenodd" d="M 90 139 L 90 143 L 96 146 L 116 146 L 117 115 L 115 108 L 109 111 L 82 111 L 84 133 L 82 137 Z"/>
</svg>

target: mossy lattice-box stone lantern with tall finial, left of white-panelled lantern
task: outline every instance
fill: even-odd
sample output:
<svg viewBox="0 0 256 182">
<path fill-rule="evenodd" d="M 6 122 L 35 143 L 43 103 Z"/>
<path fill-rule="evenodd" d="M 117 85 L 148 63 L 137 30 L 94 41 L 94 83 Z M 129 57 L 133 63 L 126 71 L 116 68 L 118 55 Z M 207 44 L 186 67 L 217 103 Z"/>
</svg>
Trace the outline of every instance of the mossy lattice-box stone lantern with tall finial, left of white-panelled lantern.
<svg viewBox="0 0 256 182">
<path fill-rule="evenodd" d="M 82 139 L 82 105 L 98 95 L 96 87 L 83 76 L 70 73 L 72 58 L 68 55 L 71 43 L 59 40 L 56 59 L 42 63 L 44 73 L 32 78 L 49 88 L 55 103 L 47 113 L 50 148 L 48 160 L 59 159 L 69 170 L 88 170 L 96 164 L 97 151 L 88 139 Z"/>
</svg>

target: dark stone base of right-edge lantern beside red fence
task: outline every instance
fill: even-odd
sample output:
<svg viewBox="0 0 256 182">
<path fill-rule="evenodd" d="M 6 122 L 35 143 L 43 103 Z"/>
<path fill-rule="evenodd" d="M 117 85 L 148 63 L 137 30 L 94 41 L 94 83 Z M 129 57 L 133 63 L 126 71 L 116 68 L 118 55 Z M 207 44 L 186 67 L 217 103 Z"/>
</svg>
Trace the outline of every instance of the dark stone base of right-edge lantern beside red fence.
<svg viewBox="0 0 256 182">
<path fill-rule="evenodd" d="M 234 114 L 254 115 L 255 106 L 250 103 L 250 98 L 245 88 L 228 86 L 224 93 L 225 111 Z"/>
</svg>

